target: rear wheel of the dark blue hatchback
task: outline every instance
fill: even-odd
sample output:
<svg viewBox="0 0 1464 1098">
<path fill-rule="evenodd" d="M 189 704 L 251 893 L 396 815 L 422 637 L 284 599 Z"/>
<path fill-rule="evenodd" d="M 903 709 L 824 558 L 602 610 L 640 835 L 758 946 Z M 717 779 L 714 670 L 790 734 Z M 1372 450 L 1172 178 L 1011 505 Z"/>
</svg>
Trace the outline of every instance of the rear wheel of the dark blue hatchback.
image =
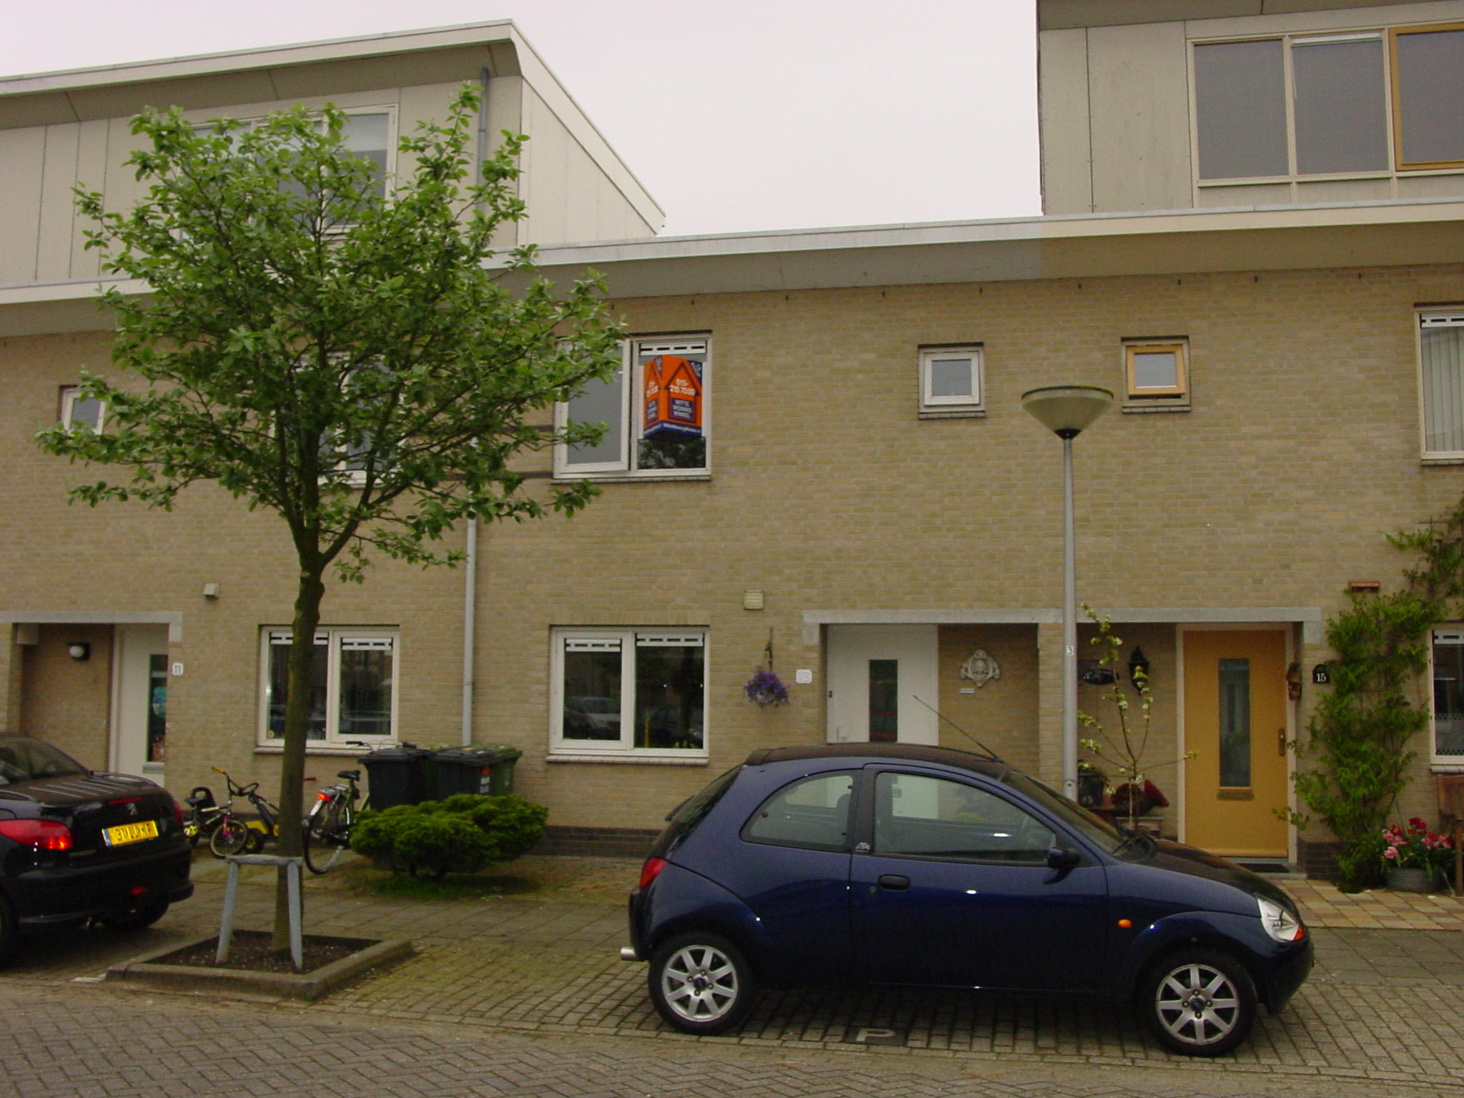
<svg viewBox="0 0 1464 1098">
<path fill-rule="evenodd" d="M 678 934 L 650 959 L 650 1001 L 684 1034 L 725 1034 L 752 1009 L 757 976 L 720 934 Z"/>
</svg>

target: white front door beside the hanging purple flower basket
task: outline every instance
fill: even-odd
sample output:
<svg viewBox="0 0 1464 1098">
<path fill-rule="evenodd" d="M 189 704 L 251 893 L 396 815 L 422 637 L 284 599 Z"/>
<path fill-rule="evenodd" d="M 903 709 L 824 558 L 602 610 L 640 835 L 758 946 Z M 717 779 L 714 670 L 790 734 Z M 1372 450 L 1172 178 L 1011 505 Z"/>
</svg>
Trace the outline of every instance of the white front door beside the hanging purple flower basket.
<svg viewBox="0 0 1464 1098">
<path fill-rule="evenodd" d="M 935 625 L 829 627 L 829 742 L 938 744 Z"/>
</svg>

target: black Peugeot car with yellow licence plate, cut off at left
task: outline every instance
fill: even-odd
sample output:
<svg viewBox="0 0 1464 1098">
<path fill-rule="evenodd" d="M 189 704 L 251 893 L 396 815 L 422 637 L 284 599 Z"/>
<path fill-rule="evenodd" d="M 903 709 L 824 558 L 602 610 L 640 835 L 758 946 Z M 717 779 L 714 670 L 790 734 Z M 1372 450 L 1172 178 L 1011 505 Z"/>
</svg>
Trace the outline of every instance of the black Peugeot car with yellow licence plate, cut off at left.
<svg viewBox="0 0 1464 1098">
<path fill-rule="evenodd" d="M 0 735 L 0 962 L 25 934 L 157 922 L 193 895 L 190 855 L 183 813 L 161 786 Z"/>
</svg>

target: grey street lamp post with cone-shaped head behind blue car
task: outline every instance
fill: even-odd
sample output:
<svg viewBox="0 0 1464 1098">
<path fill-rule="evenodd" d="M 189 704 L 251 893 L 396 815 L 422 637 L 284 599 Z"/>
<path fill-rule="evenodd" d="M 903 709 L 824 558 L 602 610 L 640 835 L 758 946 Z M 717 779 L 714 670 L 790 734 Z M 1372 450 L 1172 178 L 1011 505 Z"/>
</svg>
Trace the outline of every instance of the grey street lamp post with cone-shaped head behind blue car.
<svg viewBox="0 0 1464 1098">
<path fill-rule="evenodd" d="M 1113 404 L 1097 385 L 1048 385 L 1022 407 L 1063 441 L 1063 796 L 1078 799 L 1078 556 L 1073 549 L 1073 439 Z"/>
</svg>

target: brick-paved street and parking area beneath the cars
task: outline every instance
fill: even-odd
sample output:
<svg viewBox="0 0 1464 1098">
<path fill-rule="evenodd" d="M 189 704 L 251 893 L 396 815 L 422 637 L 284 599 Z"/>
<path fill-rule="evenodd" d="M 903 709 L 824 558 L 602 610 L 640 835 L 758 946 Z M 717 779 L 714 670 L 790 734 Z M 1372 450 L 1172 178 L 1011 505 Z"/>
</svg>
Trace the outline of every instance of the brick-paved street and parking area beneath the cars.
<svg viewBox="0 0 1464 1098">
<path fill-rule="evenodd" d="M 347 1075 L 341 1094 L 360 1095 L 1457 1095 L 1464 1086 L 1464 1054 L 1435 1035 L 1464 1010 L 1460 931 L 1316 930 L 1313 979 L 1214 1063 L 1168 1056 L 1124 1012 L 962 993 L 777 993 L 741 1034 L 682 1037 L 650 1010 L 644 966 L 615 959 L 625 934 L 618 886 L 549 900 L 422 902 L 310 881 L 310 933 L 406 935 L 419 956 L 305 1010 L 98 982 L 110 963 L 217 930 L 223 887 L 214 867 L 199 870 L 199 895 L 158 927 L 37 940 L 0 975 L 0 1047 L 12 1044 L 0 1092 L 305 1094 L 334 1070 Z M 605 867 L 612 878 L 632 870 Z M 240 925 L 266 925 L 271 905 L 264 881 L 247 884 Z M 874 1026 L 902 1031 L 906 1045 L 849 1042 Z"/>
</svg>

